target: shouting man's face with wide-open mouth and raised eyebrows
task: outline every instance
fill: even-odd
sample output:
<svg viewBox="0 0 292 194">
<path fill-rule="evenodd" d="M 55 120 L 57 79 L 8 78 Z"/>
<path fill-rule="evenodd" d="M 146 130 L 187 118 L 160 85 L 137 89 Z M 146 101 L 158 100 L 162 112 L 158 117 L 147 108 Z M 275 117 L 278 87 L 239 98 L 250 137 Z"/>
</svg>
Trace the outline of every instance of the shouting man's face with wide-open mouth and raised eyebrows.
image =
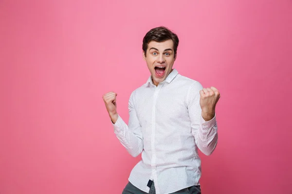
<svg viewBox="0 0 292 194">
<path fill-rule="evenodd" d="M 143 51 L 143 58 L 151 73 L 153 84 L 157 86 L 172 71 L 172 66 L 175 61 L 173 41 L 166 40 L 160 43 L 155 41 L 149 42 L 146 55 Z"/>
</svg>

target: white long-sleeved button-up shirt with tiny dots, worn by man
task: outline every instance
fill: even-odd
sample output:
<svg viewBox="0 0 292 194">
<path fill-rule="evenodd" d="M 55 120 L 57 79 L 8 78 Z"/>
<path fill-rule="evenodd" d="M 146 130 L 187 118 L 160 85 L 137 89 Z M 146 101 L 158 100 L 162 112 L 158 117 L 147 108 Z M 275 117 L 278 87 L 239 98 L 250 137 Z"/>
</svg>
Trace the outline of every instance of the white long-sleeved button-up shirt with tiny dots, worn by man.
<svg viewBox="0 0 292 194">
<path fill-rule="evenodd" d="M 128 125 L 119 116 L 114 132 L 128 152 L 142 160 L 128 180 L 148 193 L 149 179 L 156 194 L 169 194 L 200 185 L 199 149 L 210 155 L 217 145 L 216 116 L 201 116 L 202 85 L 178 74 L 176 69 L 156 87 L 149 77 L 129 98 Z"/>
</svg>

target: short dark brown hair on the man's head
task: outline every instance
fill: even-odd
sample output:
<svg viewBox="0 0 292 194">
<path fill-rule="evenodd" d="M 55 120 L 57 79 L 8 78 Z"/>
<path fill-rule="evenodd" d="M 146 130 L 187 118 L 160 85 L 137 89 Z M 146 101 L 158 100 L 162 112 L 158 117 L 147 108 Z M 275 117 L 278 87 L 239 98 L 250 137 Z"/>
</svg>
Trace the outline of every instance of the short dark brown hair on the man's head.
<svg viewBox="0 0 292 194">
<path fill-rule="evenodd" d="M 171 32 L 168 28 L 164 26 L 153 28 L 144 36 L 142 49 L 145 52 L 145 56 L 149 42 L 151 41 L 164 42 L 165 40 L 172 40 L 175 58 L 179 46 L 179 38 L 175 33 Z"/>
</svg>

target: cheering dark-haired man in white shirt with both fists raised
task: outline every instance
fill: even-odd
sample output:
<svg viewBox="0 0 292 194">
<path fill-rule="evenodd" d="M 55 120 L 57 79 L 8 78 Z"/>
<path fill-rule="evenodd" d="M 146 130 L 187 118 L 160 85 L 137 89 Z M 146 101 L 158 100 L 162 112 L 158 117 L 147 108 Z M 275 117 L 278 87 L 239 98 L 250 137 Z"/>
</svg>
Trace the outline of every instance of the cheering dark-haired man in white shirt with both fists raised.
<svg viewBox="0 0 292 194">
<path fill-rule="evenodd" d="M 103 96 L 117 138 L 133 157 L 142 153 L 123 194 L 201 194 L 198 148 L 210 155 L 217 145 L 220 94 L 172 68 L 178 45 L 165 27 L 146 33 L 143 58 L 151 76 L 130 95 L 128 125 L 116 111 L 117 94 Z"/>
</svg>

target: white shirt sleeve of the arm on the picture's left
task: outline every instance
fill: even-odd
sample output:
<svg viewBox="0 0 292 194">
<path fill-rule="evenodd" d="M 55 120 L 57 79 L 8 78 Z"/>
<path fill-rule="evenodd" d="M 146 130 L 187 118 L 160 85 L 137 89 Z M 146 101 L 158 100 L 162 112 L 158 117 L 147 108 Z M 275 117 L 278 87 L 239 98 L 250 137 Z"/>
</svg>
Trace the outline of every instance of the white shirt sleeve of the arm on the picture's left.
<svg viewBox="0 0 292 194">
<path fill-rule="evenodd" d="M 135 99 L 134 91 L 132 92 L 128 102 L 128 125 L 124 122 L 120 115 L 118 115 L 118 119 L 115 124 L 111 122 L 117 138 L 133 157 L 137 157 L 143 150 L 143 135 L 135 109 Z"/>
</svg>

